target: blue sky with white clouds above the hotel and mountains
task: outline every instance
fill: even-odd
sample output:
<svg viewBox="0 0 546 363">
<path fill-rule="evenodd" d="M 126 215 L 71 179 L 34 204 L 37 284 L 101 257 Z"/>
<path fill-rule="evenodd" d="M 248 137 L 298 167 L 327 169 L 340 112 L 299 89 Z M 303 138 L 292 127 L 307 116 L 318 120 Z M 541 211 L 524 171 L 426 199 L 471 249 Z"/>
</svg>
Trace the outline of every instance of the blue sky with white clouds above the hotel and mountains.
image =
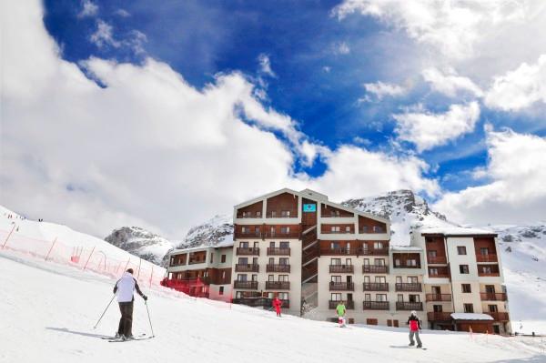
<svg viewBox="0 0 546 363">
<path fill-rule="evenodd" d="M 334 201 L 411 188 L 464 223 L 546 214 L 546 5 L 8 7 L 6 207 L 178 239 L 280 187 Z"/>
</svg>

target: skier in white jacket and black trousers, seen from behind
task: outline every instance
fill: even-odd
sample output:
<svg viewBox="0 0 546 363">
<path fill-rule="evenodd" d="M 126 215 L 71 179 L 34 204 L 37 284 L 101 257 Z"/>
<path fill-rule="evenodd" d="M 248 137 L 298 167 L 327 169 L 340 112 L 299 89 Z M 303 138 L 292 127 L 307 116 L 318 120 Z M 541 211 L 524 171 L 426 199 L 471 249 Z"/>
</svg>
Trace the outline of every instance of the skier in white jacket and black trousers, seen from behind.
<svg viewBox="0 0 546 363">
<path fill-rule="evenodd" d="M 147 296 L 140 291 L 140 287 L 133 277 L 133 268 L 129 268 L 124 272 L 123 276 L 117 280 L 114 287 L 114 294 L 117 293 L 117 303 L 121 318 L 119 319 L 119 327 L 117 328 L 116 338 L 131 339 L 133 338 L 133 291 L 136 290 L 138 295 L 147 301 Z"/>
</svg>

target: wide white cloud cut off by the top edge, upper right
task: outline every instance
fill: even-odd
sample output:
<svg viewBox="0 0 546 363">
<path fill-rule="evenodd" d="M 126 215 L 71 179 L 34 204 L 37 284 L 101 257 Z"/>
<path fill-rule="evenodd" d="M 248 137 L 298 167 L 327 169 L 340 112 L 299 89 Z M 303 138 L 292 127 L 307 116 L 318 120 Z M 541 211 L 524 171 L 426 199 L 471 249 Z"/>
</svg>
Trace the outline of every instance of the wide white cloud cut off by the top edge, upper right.
<svg viewBox="0 0 546 363">
<path fill-rule="evenodd" d="M 474 54 L 491 27 L 526 20 L 526 10 L 525 2 L 345 0 L 332 14 L 340 20 L 353 13 L 375 17 L 443 55 L 461 59 Z"/>
</svg>

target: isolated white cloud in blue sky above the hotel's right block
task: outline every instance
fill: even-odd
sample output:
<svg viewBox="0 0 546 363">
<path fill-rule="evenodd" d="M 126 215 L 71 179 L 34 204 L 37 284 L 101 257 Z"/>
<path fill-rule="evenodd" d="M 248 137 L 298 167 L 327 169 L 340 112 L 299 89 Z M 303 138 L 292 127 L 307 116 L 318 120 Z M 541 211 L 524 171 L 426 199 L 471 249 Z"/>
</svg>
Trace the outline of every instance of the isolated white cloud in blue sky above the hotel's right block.
<svg viewBox="0 0 546 363">
<path fill-rule="evenodd" d="M 418 112 L 409 111 L 393 117 L 398 122 L 395 132 L 399 140 L 415 144 L 419 152 L 445 145 L 450 140 L 470 133 L 480 118 L 477 102 L 451 105 L 443 114 L 427 112 L 422 106 L 417 109 Z"/>
</svg>

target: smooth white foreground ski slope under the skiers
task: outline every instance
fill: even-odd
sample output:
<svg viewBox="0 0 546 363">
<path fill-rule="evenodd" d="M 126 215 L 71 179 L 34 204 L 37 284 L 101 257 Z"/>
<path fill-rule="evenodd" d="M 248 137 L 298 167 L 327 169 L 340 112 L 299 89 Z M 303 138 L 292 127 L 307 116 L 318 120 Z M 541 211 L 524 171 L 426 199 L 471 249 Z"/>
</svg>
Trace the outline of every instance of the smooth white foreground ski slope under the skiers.
<svg viewBox="0 0 546 363">
<path fill-rule="evenodd" d="M 546 361 L 541 338 L 502 338 L 424 330 L 428 350 L 407 348 L 406 328 L 351 327 L 193 299 L 157 287 L 148 308 L 156 338 L 108 343 L 116 330 L 114 279 L 0 251 L 0 362 L 529 362 Z M 22 283 L 24 282 L 24 283 Z M 136 297 L 134 332 L 150 334 Z M 31 347 L 31 348 L 30 348 Z"/>
</svg>

